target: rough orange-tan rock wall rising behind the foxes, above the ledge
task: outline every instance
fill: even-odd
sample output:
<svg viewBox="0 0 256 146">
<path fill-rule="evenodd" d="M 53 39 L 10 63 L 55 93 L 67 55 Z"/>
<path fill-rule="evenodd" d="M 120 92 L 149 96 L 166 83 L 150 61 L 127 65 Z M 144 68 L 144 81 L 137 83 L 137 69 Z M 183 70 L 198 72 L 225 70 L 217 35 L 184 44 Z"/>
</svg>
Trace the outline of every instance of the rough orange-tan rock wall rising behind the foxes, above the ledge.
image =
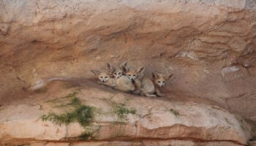
<svg viewBox="0 0 256 146">
<path fill-rule="evenodd" d="M 40 104 L 51 92 L 64 96 L 67 86 L 108 90 L 91 82 L 90 70 L 128 61 L 135 69 L 145 66 L 148 77 L 174 74 L 160 101 L 207 101 L 254 128 L 255 11 L 252 0 L 0 1 L 0 108 Z M 51 85 L 51 79 L 72 85 Z M 48 90 L 28 91 L 33 85 Z"/>
</svg>

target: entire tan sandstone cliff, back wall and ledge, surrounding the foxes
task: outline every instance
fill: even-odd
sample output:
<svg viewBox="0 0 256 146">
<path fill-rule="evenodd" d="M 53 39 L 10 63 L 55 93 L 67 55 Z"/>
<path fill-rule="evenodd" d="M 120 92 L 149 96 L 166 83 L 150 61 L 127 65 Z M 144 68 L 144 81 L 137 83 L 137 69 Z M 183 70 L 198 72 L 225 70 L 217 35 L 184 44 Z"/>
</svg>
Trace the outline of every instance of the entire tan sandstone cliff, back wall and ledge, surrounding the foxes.
<svg viewBox="0 0 256 146">
<path fill-rule="evenodd" d="M 0 139 L 54 143 L 77 137 L 80 131 L 67 132 L 72 126 L 58 127 L 36 119 L 54 110 L 45 101 L 79 89 L 80 101 L 98 109 L 110 110 L 103 101 L 99 107 L 93 103 L 112 100 L 111 96 L 132 99 L 127 101 L 128 109 L 138 110 L 136 106 L 145 103 L 138 115 L 128 114 L 128 122 L 118 125 L 124 130 L 121 139 L 97 133 L 99 139 L 117 143 L 94 145 L 124 145 L 118 142 L 126 138 L 148 138 L 149 143 L 154 140 L 166 145 L 215 145 L 210 143 L 219 141 L 246 145 L 256 127 L 255 11 L 252 0 L 0 1 Z M 103 69 L 106 61 L 129 61 L 133 66 L 145 66 L 148 74 L 173 73 L 175 78 L 167 82 L 162 99 L 118 93 L 91 81 L 89 70 Z M 26 91 L 52 77 L 69 82 L 53 82 L 37 93 Z M 157 105 L 153 109 L 151 100 Z M 176 118 L 171 109 L 178 109 L 181 115 Z M 143 117 L 150 111 L 152 120 Z M 106 131 L 116 121 L 115 115 L 96 118 L 100 119 L 94 119 L 95 126 L 105 123 Z M 49 131 L 43 128 L 45 124 Z M 12 133 L 10 128 L 17 125 L 19 131 L 28 129 L 27 134 Z M 31 132 L 30 126 L 41 130 Z M 52 137 L 53 131 L 59 131 L 56 129 L 62 130 Z"/>
</svg>

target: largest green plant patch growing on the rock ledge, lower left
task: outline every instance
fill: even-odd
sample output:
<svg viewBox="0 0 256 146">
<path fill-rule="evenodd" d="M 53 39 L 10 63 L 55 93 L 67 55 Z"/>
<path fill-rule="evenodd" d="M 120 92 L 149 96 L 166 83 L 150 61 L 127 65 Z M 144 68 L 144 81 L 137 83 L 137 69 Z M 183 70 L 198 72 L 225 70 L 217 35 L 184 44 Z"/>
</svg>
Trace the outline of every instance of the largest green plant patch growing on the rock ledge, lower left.
<svg viewBox="0 0 256 146">
<path fill-rule="evenodd" d="M 48 115 L 42 115 L 41 120 L 50 120 L 53 123 L 58 125 L 68 125 L 69 123 L 78 122 L 81 126 L 89 126 L 91 121 L 94 118 L 94 108 L 83 105 L 78 97 L 76 97 L 78 93 L 69 93 L 69 95 L 65 96 L 65 98 L 70 99 L 68 104 L 64 104 L 57 107 L 65 107 L 67 105 L 74 107 L 72 112 L 66 112 L 62 114 L 49 113 Z"/>
</svg>

